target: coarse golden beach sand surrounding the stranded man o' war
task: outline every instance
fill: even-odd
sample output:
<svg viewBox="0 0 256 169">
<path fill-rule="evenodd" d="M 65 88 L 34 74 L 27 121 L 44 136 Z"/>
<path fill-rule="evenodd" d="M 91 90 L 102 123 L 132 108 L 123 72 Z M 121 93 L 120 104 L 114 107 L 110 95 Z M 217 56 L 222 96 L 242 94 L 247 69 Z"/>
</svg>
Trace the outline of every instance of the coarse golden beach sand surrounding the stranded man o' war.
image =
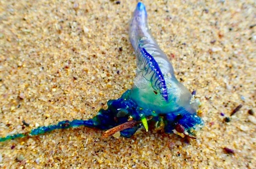
<svg viewBox="0 0 256 169">
<path fill-rule="evenodd" d="M 256 167 L 255 115 L 248 114 L 256 111 L 255 2 L 143 3 L 177 79 L 202 102 L 197 139 L 154 128 L 132 138 L 57 130 L 0 143 L 0 168 Z M 92 118 L 131 89 L 136 59 L 128 29 L 136 4 L 1 1 L 0 136 Z"/>
</svg>

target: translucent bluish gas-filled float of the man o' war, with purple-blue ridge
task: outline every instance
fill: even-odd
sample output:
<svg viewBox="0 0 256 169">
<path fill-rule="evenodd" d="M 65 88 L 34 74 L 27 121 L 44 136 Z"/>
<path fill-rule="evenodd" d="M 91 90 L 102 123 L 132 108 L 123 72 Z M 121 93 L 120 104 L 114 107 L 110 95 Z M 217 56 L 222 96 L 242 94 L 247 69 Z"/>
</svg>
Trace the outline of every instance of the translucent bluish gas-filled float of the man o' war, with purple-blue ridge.
<svg viewBox="0 0 256 169">
<path fill-rule="evenodd" d="M 142 3 L 134 11 L 129 37 L 137 59 L 131 99 L 157 114 L 196 114 L 199 102 L 176 79 L 172 64 L 148 29 Z"/>
</svg>

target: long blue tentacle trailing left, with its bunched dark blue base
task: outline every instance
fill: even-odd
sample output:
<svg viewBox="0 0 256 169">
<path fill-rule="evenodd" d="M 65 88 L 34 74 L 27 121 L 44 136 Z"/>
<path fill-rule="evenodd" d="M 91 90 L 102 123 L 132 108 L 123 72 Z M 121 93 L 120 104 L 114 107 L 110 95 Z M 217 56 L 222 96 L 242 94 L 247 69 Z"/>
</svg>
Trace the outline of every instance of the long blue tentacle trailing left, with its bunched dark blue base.
<svg viewBox="0 0 256 169">
<path fill-rule="evenodd" d="M 120 128 L 121 135 L 124 137 L 131 137 L 136 130 L 141 126 L 140 123 L 143 123 L 143 118 L 152 115 L 151 110 L 141 109 L 138 105 L 129 98 L 130 90 L 126 91 L 121 98 L 117 100 L 109 100 L 107 109 L 100 109 L 98 114 L 89 120 L 73 120 L 73 121 L 61 121 L 55 125 L 42 126 L 36 129 L 32 129 L 26 133 L 19 133 L 14 135 L 8 135 L 6 137 L 0 138 L 0 142 L 6 140 L 21 138 L 25 136 L 33 136 L 39 134 L 45 134 L 47 132 L 56 130 L 56 129 L 68 129 L 79 126 L 86 126 L 89 128 L 97 128 L 102 130 L 108 130 L 116 126 L 122 126 L 129 123 L 129 120 L 132 119 L 134 124 L 127 125 L 126 127 Z M 145 122 L 143 123 L 145 125 Z M 147 127 L 145 126 L 147 129 Z M 112 129 L 113 130 L 113 129 Z M 113 134 L 113 133 L 111 133 Z M 110 134 L 109 134 L 110 135 Z"/>
</svg>

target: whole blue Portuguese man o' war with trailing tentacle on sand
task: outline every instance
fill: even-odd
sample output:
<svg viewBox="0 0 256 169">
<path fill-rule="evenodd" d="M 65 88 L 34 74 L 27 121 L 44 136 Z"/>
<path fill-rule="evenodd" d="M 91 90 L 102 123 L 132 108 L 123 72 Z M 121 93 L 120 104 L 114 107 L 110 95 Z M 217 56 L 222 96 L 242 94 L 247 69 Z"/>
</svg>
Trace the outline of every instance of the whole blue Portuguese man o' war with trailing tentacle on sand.
<svg viewBox="0 0 256 169">
<path fill-rule="evenodd" d="M 5 140 L 44 134 L 55 129 L 86 126 L 106 130 L 102 137 L 113 134 L 131 137 L 148 123 L 163 128 L 166 133 L 196 138 L 204 122 L 197 116 L 200 102 L 175 77 L 172 64 L 159 48 L 147 26 L 145 6 L 138 3 L 131 23 L 129 38 L 136 53 L 137 72 L 131 90 L 121 98 L 108 101 L 107 109 L 100 109 L 89 120 L 61 121 L 42 126 L 27 133 L 0 138 Z"/>
</svg>

